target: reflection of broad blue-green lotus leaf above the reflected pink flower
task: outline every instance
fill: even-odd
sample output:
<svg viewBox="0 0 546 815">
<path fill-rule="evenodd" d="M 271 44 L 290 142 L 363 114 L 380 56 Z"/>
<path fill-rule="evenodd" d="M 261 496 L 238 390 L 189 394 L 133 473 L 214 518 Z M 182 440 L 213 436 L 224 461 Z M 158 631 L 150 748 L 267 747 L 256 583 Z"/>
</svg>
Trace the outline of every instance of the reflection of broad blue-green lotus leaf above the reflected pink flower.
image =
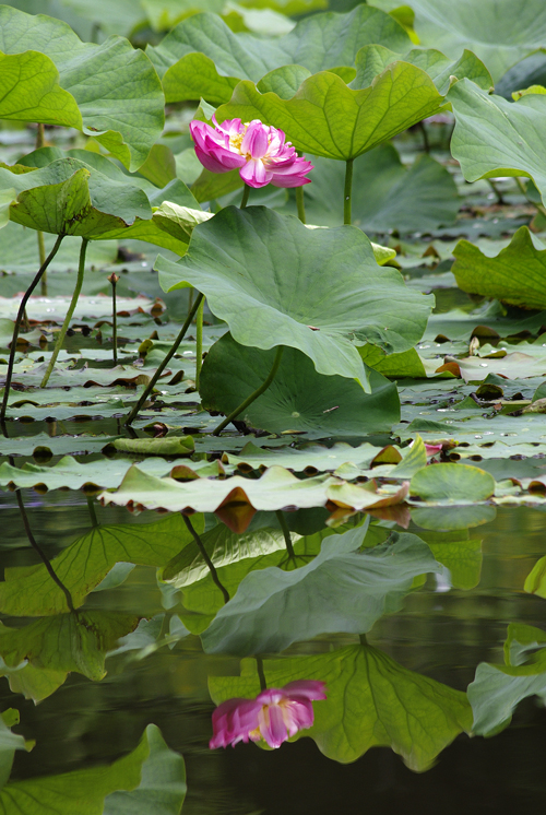
<svg viewBox="0 0 546 815">
<path fill-rule="evenodd" d="M 415 577 L 441 571 L 427 544 L 407 533 L 359 552 L 366 531 L 328 538 L 320 555 L 295 571 L 248 575 L 201 635 L 205 651 L 269 653 L 318 634 L 365 634 L 400 610 Z"/>
</svg>

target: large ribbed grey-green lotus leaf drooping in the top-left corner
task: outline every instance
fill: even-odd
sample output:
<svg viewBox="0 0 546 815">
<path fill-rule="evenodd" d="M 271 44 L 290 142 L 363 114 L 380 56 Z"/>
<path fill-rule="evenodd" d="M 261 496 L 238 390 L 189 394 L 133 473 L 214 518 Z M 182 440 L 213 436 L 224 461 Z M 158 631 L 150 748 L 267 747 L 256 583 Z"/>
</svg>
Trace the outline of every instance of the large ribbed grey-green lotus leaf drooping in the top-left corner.
<svg viewBox="0 0 546 815">
<path fill-rule="evenodd" d="M 122 37 L 102 45 L 82 43 L 60 20 L 31 16 L 9 5 L 0 7 L 0 51 L 40 51 L 52 60 L 60 86 L 78 104 L 84 133 L 96 137 L 131 170 L 145 162 L 163 130 L 165 101 L 142 50 Z M 31 92 L 28 99 L 33 102 Z"/>
</svg>

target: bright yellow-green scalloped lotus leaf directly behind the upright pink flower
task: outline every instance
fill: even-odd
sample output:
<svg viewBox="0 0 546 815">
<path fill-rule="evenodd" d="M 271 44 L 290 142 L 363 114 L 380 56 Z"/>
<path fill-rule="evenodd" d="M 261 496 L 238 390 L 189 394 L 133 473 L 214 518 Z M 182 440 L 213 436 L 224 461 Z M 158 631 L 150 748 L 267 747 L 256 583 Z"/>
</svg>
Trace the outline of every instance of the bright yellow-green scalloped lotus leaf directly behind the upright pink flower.
<svg viewBox="0 0 546 815">
<path fill-rule="evenodd" d="M 393 62 L 369 87 L 356 91 L 335 73 L 316 73 L 290 99 L 261 94 L 252 82 L 239 82 L 228 104 L 218 107 L 216 118 L 219 122 L 261 119 L 284 130 L 299 151 L 347 161 L 443 106 L 444 97 L 425 71 L 408 62 Z"/>
</svg>

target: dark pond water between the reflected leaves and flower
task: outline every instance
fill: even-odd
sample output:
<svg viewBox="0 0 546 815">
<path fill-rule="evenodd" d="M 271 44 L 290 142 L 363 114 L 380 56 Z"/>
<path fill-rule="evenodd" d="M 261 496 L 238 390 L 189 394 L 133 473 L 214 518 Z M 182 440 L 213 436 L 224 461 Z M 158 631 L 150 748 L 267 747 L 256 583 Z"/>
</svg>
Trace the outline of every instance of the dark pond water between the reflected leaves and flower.
<svg viewBox="0 0 546 815">
<path fill-rule="evenodd" d="M 81 492 L 38 496 L 27 491 L 24 499 L 34 533 L 50 558 L 90 529 Z M 103 523 L 157 520 L 156 515 L 134 517 L 124 509 L 99 506 L 97 515 Z M 2 567 L 36 563 L 14 494 L 0 495 L 0 523 Z M 545 601 L 524 593 L 523 583 L 546 554 L 545 523 L 546 516 L 533 509 L 499 509 L 494 521 L 470 531 L 471 538 L 483 542 L 478 584 L 450 589 L 428 576 L 423 588 L 405 598 L 400 613 L 376 623 L 368 642 L 406 669 L 465 690 L 478 662 L 502 661 L 509 623 L 544 627 Z M 441 542 L 442 533 L 417 527 L 410 531 Z M 155 569 L 136 567 L 122 586 L 91 594 L 85 607 L 141 617 L 163 612 Z M 32 622 L 3 619 L 9 625 Z M 330 635 L 295 643 L 272 659 L 328 652 L 355 642 L 355 635 Z M 144 659 L 110 657 L 106 668 L 102 682 L 69 674 L 55 694 L 36 706 L 12 694 L 7 680 L 0 680 L 1 709 L 16 707 L 22 723 L 15 731 L 36 740 L 32 753 L 16 753 L 13 779 L 110 763 L 134 748 L 144 727 L 154 722 L 167 744 L 185 756 L 183 812 L 188 815 L 544 811 L 546 712 L 535 699 L 524 700 L 512 724 L 499 735 L 472 740 L 459 735 L 432 768 L 417 773 L 388 747 L 375 747 L 343 765 L 321 755 L 310 739 L 273 752 L 253 744 L 210 751 L 214 705 L 207 677 L 238 675 L 239 660 L 203 653 L 197 636 Z"/>
</svg>

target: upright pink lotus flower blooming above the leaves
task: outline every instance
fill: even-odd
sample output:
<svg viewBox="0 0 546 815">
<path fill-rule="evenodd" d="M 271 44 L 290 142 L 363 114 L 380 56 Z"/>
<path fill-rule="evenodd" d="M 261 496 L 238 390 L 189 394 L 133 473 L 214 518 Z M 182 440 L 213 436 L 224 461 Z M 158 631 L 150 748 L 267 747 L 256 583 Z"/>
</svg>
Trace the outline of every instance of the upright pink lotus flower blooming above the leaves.
<svg viewBox="0 0 546 815">
<path fill-rule="evenodd" d="M 282 130 L 262 125 L 259 119 L 244 125 L 240 119 L 226 119 L 214 127 L 204 121 L 190 123 L 195 154 L 201 164 L 212 173 L 228 173 L 239 168 L 239 175 L 249 187 L 301 187 L 309 184 L 306 174 L 312 169 L 296 153 L 290 142 L 285 142 Z"/>
</svg>

